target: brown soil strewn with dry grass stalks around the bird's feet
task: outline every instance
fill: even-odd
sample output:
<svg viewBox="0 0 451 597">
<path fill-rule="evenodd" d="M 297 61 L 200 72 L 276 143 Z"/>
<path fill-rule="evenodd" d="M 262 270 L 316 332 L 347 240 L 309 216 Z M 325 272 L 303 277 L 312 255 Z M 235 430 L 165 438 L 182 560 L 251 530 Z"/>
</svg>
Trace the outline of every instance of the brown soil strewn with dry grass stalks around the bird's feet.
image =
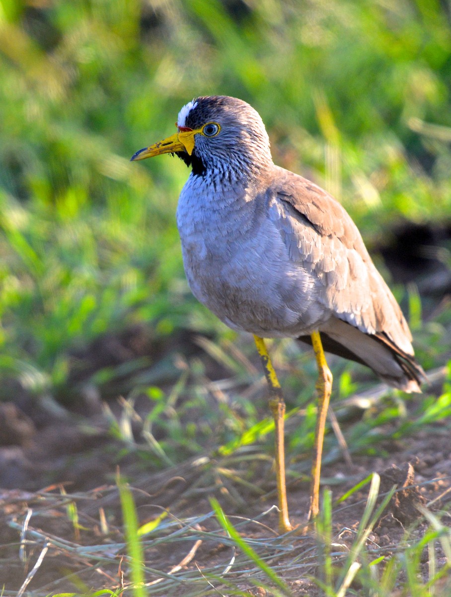
<svg viewBox="0 0 451 597">
<path fill-rule="evenodd" d="M 440 272 L 436 268 L 428 275 L 435 276 L 434 279 L 441 276 L 442 286 L 437 293 L 441 301 L 449 293 L 449 278 Z M 404 281 L 409 281 L 405 271 L 404 277 Z M 186 338 L 179 340 L 177 348 L 181 352 L 194 350 Z M 105 364 L 127 362 L 137 353 L 161 352 L 166 348 L 153 346 L 141 330 L 128 330 L 116 336 L 111 334 L 77 356 L 85 368 L 78 367 L 74 371 L 74 384 Z M 443 377 L 444 371 L 437 374 L 437 395 Z M 194 517 L 198 521 L 193 523 L 192 529 L 200 535 L 198 538 L 193 536 L 191 542 L 185 535 L 181 541 L 158 543 L 155 547 L 148 544 L 145 558 L 147 565 L 155 569 L 155 583 L 160 578 L 158 571 L 170 573 L 176 565 L 180 565 L 182 571 L 191 570 L 198 574 L 200 580 L 203 578 L 197 567 L 203 570 L 223 563 L 226 568 L 232 548 L 220 540 L 221 531 L 216 519 L 208 516 L 210 496 L 217 497 L 227 515 L 243 517 L 232 518 L 234 524 L 247 519 L 247 524 L 240 527 L 242 534 L 275 540 L 277 534 L 273 530 L 277 528 L 277 515 L 270 508 L 276 498 L 270 458 L 257 460 L 254 464 L 248 464 L 249 461 L 227 464 L 210 454 L 204 458 L 186 458 L 172 469 L 157 470 L 147 466 L 135 451 L 125 447 L 123 441 L 114 438 L 111 419 L 102 410 L 99 396 L 95 392 L 90 394 L 89 387 L 75 404 L 63 408 L 45 396 L 37 400 L 17 382 L 8 384 L 11 400 L 0 403 L 0 586 L 5 587 L 4 595 L 15 595 L 23 586 L 27 574 L 42 555 L 46 541 L 48 550 L 42 556 L 42 563 L 27 592 L 36 592 L 35 595 L 83 592 L 80 583 L 85 583 L 85 589 L 108 587 L 119 590 L 122 582 L 126 584 L 127 579 L 121 580 L 124 567 L 120 563 L 125 548 L 113 547 L 123 542 L 116 487 L 118 465 L 120 475 L 133 488 L 141 524 L 160 515 L 162 509 L 169 509 L 171 515 L 180 519 Z M 114 393 L 112 389 L 111 396 Z M 110 401 L 110 407 L 113 411 L 122 408 L 118 406 L 117 398 Z M 133 431 L 139 435 L 138 428 Z M 261 447 L 259 449 L 261 453 Z M 373 471 L 381 475 L 381 493 L 397 485 L 400 491 L 394 495 L 369 537 L 380 553 L 390 555 L 402 540 L 406 528 L 416 524 L 413 537 L 421 536 L 427 528 L 427 524 L 420 522 L 418 505 L 427 505 L 431 512 L 449 509 L 449 421 L 425 427 L 402 441 L 384 442 L 383 450 L 389 456 L 353 456 L 352 464 L 339 457 L 324 466 L 322 478 L 324 485 L 331 487 L 334 499 Z M 228 476 L 222 470 L 225 466 L 229 467 Z M 290 463 L 289 469 L 296 471 L 296 463 Z M 252 485 L 242 484 L 237 479 L 245 479 Z M 294 524 L 303 525 L 309 505 L 309 484 L 305 475 L 290 479 L 290 515 Z M 368 485 L 334 508 L 334 543 L 343 546 L 343 550 L 352 544 L 367 496 Z M 76 504 L 79 528 L 70 521 L 68 504 Z M 262 517 L 267 510 L 270 512 Z M 30 516 L 28 522 L 27 515 Z M 202 515 L 206 517 L 200 521 Z M 253 517 L 259 522 L 252 522 Z M 202 538 L 202 531 L 216 532 L 216 541 Z M 295 534 L 287 541 L 291 541 L 292 561 L 296 560 L 297 553 L 301 557 L 309 546 L 315 547 L 313 534 Z M 284 552 L 278 551 L 282 544 L 275 545 L 269 563 L 276 566 Z M 104 565 L 94 565 L 92 558 L 81 549 L 74 550 L 74 546 L 103 546 L 109 559 Z M 437 548 L 437 568 L 444 562 L 445 555 Z M 288 574 L 285 580 L 293 594 L 315 595 L 315 586 L 302 580 L 315 574 L 315 565 L 306 565 L 302 570 L 297 577 L 296 572 L 291 576 Z M 241 578 L 240 574 L 238 578 Z M 247 581 L 245 573 L 238 587 L 253 595 L 268 594 Z M 204 581 L 203 590 L 207 589 L 209 586 Z M 160 594 L 155 587 L 154 591 L 153 594 Z M 169 593 L 161 592 L 161 595 L 166 594 Z"/>
</svg>

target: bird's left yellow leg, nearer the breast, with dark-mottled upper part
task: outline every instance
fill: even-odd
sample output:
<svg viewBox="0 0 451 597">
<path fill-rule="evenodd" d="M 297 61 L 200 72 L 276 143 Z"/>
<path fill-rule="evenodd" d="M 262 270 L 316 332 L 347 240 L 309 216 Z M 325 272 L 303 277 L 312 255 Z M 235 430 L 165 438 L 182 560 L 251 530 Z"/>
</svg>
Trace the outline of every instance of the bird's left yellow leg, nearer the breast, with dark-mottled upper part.
<svg viewBox="0 0 451 597">
<path fill-rule="evenodd" d="M 269 385 L 269 408 L 274 419 L 275 425 L 275 444 L 276 444 L 276 479 L 277 496 L 279 500 L 279 531 L 287 533 L 293 530 L 288 518 L 287 488 L 285 487 L 285 448 L 284 448 L 284 416 L 285 402 L 282 395 L 282 388 L 276 376 L 276 372 L 269 358 L 268 349 L 266 349 L 265 340 L 259 336 L 254 336 L 254 340 L 262 358 L 263 370 Z"/>
</svg>

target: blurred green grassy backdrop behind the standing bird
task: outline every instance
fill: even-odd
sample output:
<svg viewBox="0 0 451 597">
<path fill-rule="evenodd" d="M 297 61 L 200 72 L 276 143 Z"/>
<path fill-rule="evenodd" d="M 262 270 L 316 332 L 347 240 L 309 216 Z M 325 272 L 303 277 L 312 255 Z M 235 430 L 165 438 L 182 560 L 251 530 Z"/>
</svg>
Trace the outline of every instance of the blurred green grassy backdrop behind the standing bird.
<svg viewBox="0 0 451 597">
<path fill-rule="evenodd" d="M 443 364 L 450 11 L 446 0 L 0 0 L 1 398 L 70 407 L 139 386 L 154 404 L 188 367 L 174 355 L 201 350 L 255 374 L 230 352 L 253 347 L 186 284 L 185 165 L 129 162 L 203 94 L 251 103 L 275 162 L 344 204 L 419 360 Z"/>
</svg>

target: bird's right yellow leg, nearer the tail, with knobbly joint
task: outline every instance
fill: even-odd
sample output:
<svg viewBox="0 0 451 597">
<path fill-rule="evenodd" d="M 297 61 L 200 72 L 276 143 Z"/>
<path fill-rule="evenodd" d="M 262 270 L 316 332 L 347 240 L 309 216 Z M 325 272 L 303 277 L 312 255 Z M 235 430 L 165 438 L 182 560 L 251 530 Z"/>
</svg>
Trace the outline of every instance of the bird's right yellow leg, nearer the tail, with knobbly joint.
<svg viewBox="0 0 451 597">
<path fill-rule="evenodd" d="M 332 391 L 332 373 L 326 362 L 319 332 L 313 332 L 310 334 L 310 337 L 312 338 L 313 350 L 315 351 L 316 363 L 318 364 L 319 371 L 318 381 L 316 382 L 316 390 L 318 391 L 318 414 L 316 416 L 315 446 L 313 448 L 309 512 L 309 519 L 312 518 L 315 520 L 319 512 L 319 476 L 321 474 L 324 428 L 329 408 L 329 398 L 331 397 Z"/>
</svg>

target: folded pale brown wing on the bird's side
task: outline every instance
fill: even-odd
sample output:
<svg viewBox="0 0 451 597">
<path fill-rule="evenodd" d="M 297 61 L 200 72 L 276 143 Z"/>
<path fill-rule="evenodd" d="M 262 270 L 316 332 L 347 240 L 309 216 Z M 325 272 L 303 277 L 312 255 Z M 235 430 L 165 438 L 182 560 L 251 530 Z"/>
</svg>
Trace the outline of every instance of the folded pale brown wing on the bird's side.
<svg viewBox="0 0 451 597">
<path fill-rule="evenodd" d="M 337 318 L 413 355 L 412 336 L 344 208 L 316 184 L 278 168 L 271 186 L 291 259 L 318 280 L 319 300 Z"/>
</svg>

